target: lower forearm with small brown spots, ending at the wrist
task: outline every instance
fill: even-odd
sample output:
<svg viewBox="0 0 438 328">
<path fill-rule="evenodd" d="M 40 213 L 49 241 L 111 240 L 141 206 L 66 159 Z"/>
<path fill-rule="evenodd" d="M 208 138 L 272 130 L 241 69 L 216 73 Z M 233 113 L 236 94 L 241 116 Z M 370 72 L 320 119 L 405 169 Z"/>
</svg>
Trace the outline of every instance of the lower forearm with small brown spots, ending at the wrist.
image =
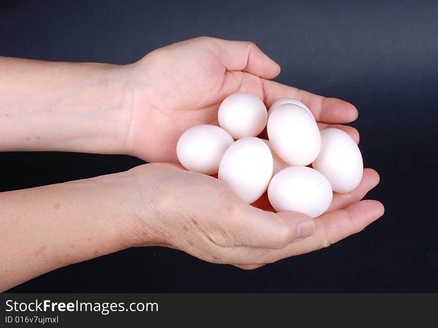
<svg viewBox="0 0 438 328">
<path fill-rule="evenodd" d="M 0 291 L 135 245 L 126 175 L 0 193 Z"/>
</svg>

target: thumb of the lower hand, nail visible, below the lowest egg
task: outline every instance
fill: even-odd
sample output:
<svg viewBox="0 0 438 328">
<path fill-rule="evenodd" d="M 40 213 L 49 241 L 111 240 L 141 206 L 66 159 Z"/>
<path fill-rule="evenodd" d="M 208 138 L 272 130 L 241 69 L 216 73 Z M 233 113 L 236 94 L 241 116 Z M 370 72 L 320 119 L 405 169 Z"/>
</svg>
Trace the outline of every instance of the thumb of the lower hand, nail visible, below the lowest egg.
<svg viewBox="0 0 438 328">
<path fill-rule="evenodd" d="M 232 235 L 232 243 L 228 246 L 280 249 L 315 232 L 314 220 L 305 214 L 272 213 L 243 202 L 242 204 L 234 207 L 232 213 L 228 213 L 227 226 Z"/>
</svg>

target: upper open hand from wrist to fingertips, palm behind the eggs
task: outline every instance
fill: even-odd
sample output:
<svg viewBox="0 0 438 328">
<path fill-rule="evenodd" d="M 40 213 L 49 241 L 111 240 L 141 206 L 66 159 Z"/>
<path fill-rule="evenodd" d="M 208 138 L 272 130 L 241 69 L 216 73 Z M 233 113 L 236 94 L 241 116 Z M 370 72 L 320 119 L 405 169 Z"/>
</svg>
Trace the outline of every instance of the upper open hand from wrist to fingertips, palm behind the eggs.
<svg viewBox="0 0 438 328">
<path fill-rule="evenodd" d="M 344 101 L 313 95 L 269 81 L 280 66 L 256 45 L 198 37 L 152 51 L 123 68 L 129 121 L 128 154 L 149 162 L 176 162 L 176 143 L 189 127 L 218 124 L 220 103 L 236 92 L 256 95 L 269 108 L 280 98 L 302 101 L 313 112 L 320 129 L 337 127 L 358 142 L 350 126 L 357 110 Z"/>
</svg>

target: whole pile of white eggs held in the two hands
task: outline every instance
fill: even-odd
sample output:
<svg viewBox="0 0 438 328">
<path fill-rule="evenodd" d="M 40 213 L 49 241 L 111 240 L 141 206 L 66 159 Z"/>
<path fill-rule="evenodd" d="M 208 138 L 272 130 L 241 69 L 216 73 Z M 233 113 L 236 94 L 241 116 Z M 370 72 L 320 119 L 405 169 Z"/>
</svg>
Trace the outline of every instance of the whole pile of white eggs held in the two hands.
<svg viewBox="0 0 438 328">
<path fill-rule="evenodd" d="M 340 129 L 320 132 L 312 112 L 297 100 L 280 99 L 267 111 L 256 96 L 236 93 L 220 104 L 218 121 L 220 127 L 185 131 L 178 159 L 189 171 L 218 174 L 248 204 L 267 190 L 274 210 L 315 218 L 327 211 L 333 191 L 350 192 L 362 179 L 355 141 Z M 265 127 L 268 140 L 256 137 Z"/>
</svg>

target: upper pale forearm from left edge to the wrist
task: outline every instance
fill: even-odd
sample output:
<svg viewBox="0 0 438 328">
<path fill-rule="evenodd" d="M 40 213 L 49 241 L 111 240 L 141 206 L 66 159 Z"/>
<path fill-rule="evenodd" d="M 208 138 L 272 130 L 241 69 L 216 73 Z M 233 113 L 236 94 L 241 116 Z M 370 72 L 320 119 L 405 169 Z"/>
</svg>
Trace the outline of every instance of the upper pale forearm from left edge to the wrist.
<svg viewBox="0 0 438 328">
<path fill-rule="evenodd" d="M 124 153 L 123 69 L 0 57 L 0 151 Z"/>
</svg>

